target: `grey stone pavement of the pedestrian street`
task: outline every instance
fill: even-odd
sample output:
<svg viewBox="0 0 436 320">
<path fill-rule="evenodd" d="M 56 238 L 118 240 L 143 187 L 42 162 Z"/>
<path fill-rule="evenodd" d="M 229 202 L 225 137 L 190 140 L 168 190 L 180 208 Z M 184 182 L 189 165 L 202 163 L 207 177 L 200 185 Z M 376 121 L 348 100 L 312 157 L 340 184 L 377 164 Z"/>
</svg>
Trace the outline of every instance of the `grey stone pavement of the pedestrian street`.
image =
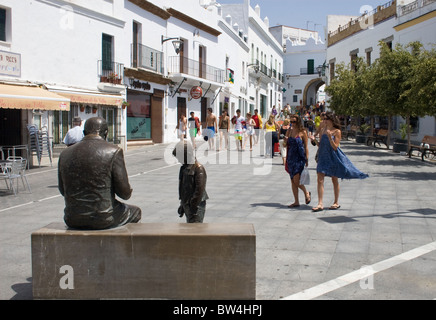
<svg viewBox="0 0 436 320">
<path fill-rule="evenodd" d="M 203 144 L 205 223 L 254 224 L 257 299 L 435 299 L 436 165 L 351 141 L 341 148 L 370 178 L 341 181 L 341 208 L 313 213 L 315 147 L 312 203 L 289 209 L 293 196 L 280 157 L 206 152 Z M 179 164 L 171 151 L 155 145 L 125 155 L 134 190 L 127 202 L 142 208 L 142 223 L 185 222 L 177 215 Z M 28 172 L 31 194 L 14 197 L 0 185 L 0 299 L 32 299 L 30 234 L 63 217 L 56 162 Z M 332 202 L 327 178 L 325 207 Z"/>
</svg>

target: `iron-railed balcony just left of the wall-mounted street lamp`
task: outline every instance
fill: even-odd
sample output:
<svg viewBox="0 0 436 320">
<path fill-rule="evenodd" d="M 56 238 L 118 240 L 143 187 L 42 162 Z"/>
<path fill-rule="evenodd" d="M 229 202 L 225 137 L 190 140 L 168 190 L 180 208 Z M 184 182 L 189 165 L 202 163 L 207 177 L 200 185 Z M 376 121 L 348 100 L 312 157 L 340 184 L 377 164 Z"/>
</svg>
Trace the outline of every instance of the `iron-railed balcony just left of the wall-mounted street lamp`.
<svg viewBox="0 0 436 320">
<path fill-rule="evenodd" d="M 163 74 L 163 53 L 142 44 L 131 45 L 132 68 L 141 68 Z"/>
</svg>

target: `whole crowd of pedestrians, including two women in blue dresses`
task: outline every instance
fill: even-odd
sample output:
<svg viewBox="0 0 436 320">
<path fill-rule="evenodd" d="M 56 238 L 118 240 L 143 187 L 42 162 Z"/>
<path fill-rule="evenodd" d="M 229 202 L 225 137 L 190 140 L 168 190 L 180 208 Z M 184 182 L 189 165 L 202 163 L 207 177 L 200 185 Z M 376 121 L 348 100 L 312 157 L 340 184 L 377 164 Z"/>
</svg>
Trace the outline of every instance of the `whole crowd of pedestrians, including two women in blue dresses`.
<svg viewBox="0 0 436 320">
<path fill-rule="evenodd" d="M 331 177 L 334 191 L 334 202 L 330 210 L 337 210 L 339 204 L 339 179 L 365 179 L 367 174 L 359 171 L 348 157 L 340 149 L 341 126 L 336 115 L 330 112 L 317 114 L 319 119 L 313 121 L 313 130 L 304 125 L 304 117 L 299 114 L 287 116 L 281 125 L 276 121 L 276 116 L 271 114 L 265 123 L 258 113 L 254 115 L 247 113 L 241 115 L 236 110 L 236 115 L 230 119 L 227 110 L 223 110 L 221 116 L 216 117 L 209 108 L 206 117 L 206 129 L 202 134 L 209 143 L 209 149 L 215 149 L 216 134 L 219 133 L 219 148 L 229 150 L 230 136 L 233 135 L 238 151 L 245 150 L 247 142 L 250 144 L 250 151 L 260 142 L 260 133 L 264 133 L 265 157 L 274 157 L 277 144 L 280 145 L 280 153 L 286 172 L 291 179 L 292 194 L 294 202 L 289 208 L 301 206 L 299 190 L 303 191 L 305 204 L 312 201 L 312 193 L 302 183 L 302 175 L 308 175 L 309 166 L 309 143 L 318 146 L 315 160 L 317 162 L 317 194 L 318 204 L 312 208 L 313 212 L 324 210 L 324 181 L 325 177 Z M 234 133 L 231 134 L 231 128 Z M 177 129 L 180 139 L 183 140 L 186 131 L 189 131 L 192 145 L 195 148 L 195 137 L 200 133 L 200 122 L 191 112 L 189 120 L 179 120 Z M 187 130 L 189 129 L 189 130 Z M 263 130 L 262 130 L 263 129 Z M 303 172 L 306 170 L 306 172 Z"/>
</svg>

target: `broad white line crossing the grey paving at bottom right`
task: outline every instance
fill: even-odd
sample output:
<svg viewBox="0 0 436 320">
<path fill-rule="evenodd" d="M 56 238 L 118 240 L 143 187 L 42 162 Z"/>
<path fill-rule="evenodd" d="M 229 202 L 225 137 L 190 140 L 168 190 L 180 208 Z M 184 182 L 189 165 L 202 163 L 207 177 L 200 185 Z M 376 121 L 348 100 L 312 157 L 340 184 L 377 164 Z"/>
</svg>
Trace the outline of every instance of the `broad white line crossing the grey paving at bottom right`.
<svg viewBox="0 0 436 320">
<path fill-rule="evenodd" d="M 318 298 L 324 294 L 327 294 L 327 293 L 332 292 L 334 290 L 345 287 L 345 286 L 352 284 L 356 281 L 367 279 L 368 277 L 370 277 L 378 272 L 393 268 L 399 264 L 402 264 L 402 263 L 407 262 L 407 261 L 411 261 L 413 259 L 416 259 L 422 255 L 425 255 L 425 254 L 430 253 L 430 252 L 435 251 L 435 250 L 436 250 L 436 241 L 429 243 L 429 244 L 426 244 L 424 246 L 421 246 L 419 248 L 404 252 L 400 255 L 389 258 L 387 260 L 383 260 L 383 261 L 378 262 L 376 264 L 373 264 L 371 266 L 362 267 L 359 270 L 350 272 L 346 275 L 343 275 L 343 276 L 338 277 L 336 279 L 333 279 L 331 281 L 324 282 L 324 283 L 319 284 L 319 285 L 312 287 L 310 289 L 295 293 L 295 294 L 290 295 L 288 297 L 285 297 L 281 300 L 311 300 L 311 299 L 315 299 L 315 298 Z"/>
</svg>

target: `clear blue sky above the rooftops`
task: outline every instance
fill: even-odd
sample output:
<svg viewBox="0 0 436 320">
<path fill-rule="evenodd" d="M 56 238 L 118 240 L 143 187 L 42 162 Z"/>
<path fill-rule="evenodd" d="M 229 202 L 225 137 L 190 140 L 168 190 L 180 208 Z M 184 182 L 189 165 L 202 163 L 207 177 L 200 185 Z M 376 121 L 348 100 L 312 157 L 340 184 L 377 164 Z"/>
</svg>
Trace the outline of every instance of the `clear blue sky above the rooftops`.
<svg viewBox="0 0 436 320">
<path fill-rule="evenodd" d="M 218 3 L 243 3 L 244 0 L 217 0 Z M 327 16 L 335 15 L 361 15 L 361 9 L 376 8 L 389 0 L 251 0 L 254 8 L 260 6 L 260 16 L 269 19 L 271 27 L 285 25 L 290 27 L 323 32 Z M 368 10 L 370 11 L 370 10 Z M 363 13 L 363 11 L 362 11 Z M 309 22 L 308 22 L 309 21 Z M 316 25 L 315 25 L 316 24 Z"/>
</svg>

